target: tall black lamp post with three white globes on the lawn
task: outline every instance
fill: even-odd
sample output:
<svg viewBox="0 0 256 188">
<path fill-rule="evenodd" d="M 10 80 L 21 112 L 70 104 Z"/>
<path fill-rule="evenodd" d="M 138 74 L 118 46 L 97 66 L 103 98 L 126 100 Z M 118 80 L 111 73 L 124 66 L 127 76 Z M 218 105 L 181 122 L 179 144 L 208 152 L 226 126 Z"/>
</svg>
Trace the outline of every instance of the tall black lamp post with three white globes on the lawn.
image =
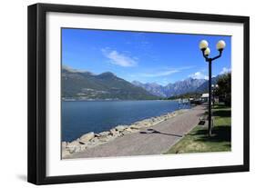
<svg viewBox="0 0 256 188">
<path fill-rule="evenodd" d="M 217 45 L 216 48 L 219 51 L 219 54 L 215 57 L 209 57 L 210 55 L 210 48 L 208 47 L 208 42 L 206 40 L 202 40 L 200 41 L 200 50 L 202 52 L 203 57 L 205 58 L 205 61 L 208 62 L 209 65 L 209 87 L 208 87 L 208 91 L 209 91 L 209 100 L 208 100 L 208 134 L 209 136 L 211 136 L 211 63 L 212 61 L 220 58 L 223 49 L 225 48 L 226 44 L 224 41 L 220 40 Z"/>
</svg>

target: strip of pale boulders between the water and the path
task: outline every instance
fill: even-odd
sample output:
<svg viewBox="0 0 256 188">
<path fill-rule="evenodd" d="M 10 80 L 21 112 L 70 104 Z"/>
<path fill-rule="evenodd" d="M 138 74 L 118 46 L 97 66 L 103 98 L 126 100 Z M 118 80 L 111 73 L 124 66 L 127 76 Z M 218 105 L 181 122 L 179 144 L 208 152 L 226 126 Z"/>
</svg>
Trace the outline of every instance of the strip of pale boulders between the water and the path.
<svg viewBox="0 0 256 188">
<path fill-rule="evenodd" d="M 138 121 L 134 124 L 130 125 L 118 125 L 109 131 L 101 132 L 99 134 L 95 134 L 93 132 L 82 135 L 77 140 L 74 140 L 70 143 L 62 142 L 62 158 L 67 158 L 72 155 L 72 153 L 79 153 L 86 151 L 89 148 L 96 147 L 97 145 L 108 143 L 109 141 L 113 141 L 120 136 L 124 136 L 126 134 L 138 133 L 143 128 L 148 128 L 155 124 L 159 124 L 163 121 L 168 120 L 169 118 L 173 118 L 178 114 L 182 114 L 188 111 L 188 109 L 181 109 L 172 113 L 162 114 L 156 117 L 151 117 L 148 119 L 144 119 Z"/>
</svg>

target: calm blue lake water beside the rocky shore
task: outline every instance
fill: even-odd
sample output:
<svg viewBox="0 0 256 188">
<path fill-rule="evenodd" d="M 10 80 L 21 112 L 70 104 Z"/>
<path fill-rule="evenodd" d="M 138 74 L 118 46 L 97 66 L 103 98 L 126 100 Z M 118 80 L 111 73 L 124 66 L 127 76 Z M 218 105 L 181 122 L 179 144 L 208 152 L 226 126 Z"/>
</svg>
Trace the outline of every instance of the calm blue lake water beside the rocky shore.
<svg viewBox="0 0 256 188">
<path fill-rule="evenodd" d="M 108 131 L 118 124 L 173 112 L 180 108 L 177 101 L 94 101 L 62 102 L 62 141 L 72 141 L 88 132 Z"/>
</svg>

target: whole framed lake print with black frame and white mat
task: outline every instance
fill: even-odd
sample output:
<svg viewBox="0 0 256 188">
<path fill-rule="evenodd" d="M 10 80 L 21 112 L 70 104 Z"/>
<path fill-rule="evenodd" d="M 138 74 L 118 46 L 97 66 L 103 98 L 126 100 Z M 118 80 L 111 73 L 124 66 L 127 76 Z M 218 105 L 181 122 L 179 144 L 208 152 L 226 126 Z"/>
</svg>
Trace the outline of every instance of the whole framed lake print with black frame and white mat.
<svg viewBox="0 0 256 188">
<path fill-rule="evenodd" d="M 28 182 L 249 171 L 249 17 L 28 6 Z"/>
</svg>

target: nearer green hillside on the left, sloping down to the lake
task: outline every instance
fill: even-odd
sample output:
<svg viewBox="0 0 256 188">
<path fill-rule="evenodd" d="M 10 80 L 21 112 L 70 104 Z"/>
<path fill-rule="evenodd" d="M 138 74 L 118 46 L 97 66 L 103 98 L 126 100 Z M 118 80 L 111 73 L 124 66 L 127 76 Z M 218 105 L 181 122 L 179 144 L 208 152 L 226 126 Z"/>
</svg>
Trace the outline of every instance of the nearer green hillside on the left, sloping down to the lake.
<svg viewBox="0 0 256 188">
<path fill-rule="evenodd" d="M 64 99 L 108 99 L 108 100 L 151 100 L 159 97 L 115 74 L 91 74 L 62 68 L 62 98 Z"/>
</svg>

